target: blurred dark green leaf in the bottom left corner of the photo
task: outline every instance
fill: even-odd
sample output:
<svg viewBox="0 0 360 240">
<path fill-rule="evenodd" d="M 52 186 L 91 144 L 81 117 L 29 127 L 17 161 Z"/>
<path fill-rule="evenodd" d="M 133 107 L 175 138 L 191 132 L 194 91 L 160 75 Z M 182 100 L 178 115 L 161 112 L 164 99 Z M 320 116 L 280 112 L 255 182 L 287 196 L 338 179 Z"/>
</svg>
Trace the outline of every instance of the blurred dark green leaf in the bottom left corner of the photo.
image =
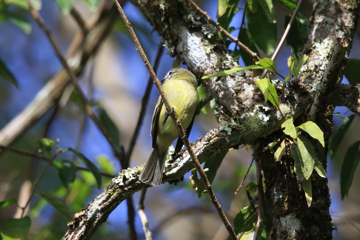
<svg viewBox="0 0 360 240">
<path fill-rule="evenodd" d="M 29 216 L 23 218 L 9 218 L 3 222 L 0 235 L 3 240 L 24 239 L 30 229 L 31 219 Z"/>
</svg>

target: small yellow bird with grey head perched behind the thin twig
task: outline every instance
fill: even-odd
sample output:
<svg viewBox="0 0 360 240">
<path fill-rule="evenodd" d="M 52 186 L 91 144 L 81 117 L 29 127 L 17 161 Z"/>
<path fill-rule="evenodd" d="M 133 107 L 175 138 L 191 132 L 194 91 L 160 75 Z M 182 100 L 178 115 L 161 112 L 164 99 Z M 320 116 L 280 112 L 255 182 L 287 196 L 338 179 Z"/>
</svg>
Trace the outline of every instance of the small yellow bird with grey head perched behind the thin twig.
<svg viewBox="0 0 360 240">
<path fill-rule="evenodd" d="M 183 126 L 186 137 L 189 137 L 193 127 L 195 112 L 199 105 L 198 86 L 194 74 L 184 68 L 173 68 L 161 80 L 171 107 L 176 117 Z M 139 179 L 145 184 L 159 186 L 165 167 L 167 150 L 172 142 L 179 136 L 177 128 L 169 116 L 165 105 L 159 97 L 151 123 L 150 135 L 153 137 L 153 150 L 140 173 Z M 179 137 L 176 142 L 175 152 L 183 147 L 183 140 Z"/>
</svg>

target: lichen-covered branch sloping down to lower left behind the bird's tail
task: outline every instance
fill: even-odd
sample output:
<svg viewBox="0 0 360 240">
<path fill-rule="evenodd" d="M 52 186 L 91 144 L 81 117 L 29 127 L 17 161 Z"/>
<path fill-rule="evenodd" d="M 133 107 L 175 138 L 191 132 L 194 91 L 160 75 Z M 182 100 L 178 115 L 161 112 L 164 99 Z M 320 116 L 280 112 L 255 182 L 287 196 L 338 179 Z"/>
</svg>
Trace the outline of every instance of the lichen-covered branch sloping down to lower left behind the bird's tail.
<svg viewBox="0 0 360 240">
<path fill-rule="evenodd" d="M 200 162 L 225 149 L 239 146 L 239 131 L 234 130 L 231 135 L 216 128 L 210 131 L 193 144 L 193 149 Z M 194 164 L 187 151 L 182 151 L 180 157 L 170 160 L 165 168 L 164 182 L 178 181 L 186 172 L 194 168 Z M 75 218 L 69 223 L 69 230 L 62 240 L 89 239 L 96 229 L 108 218 L 109 214 L 132 194 L 150 187 L 138 179 L 141 167 L 123 170 L 114 178 L 101 193 L 94 198 Z"/>
</svg>

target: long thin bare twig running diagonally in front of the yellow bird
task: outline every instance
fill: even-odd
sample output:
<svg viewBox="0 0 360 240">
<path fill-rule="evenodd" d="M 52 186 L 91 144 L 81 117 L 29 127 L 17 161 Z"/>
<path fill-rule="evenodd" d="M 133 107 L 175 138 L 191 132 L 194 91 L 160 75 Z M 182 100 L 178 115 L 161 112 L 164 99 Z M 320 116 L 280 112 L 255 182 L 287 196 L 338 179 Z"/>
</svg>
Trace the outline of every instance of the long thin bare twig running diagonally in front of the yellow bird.
<svg viewBox="0 0 360 240">
<path fill-rule="evenodd" d="M 154 83 L 157 87 L 157 89 L 159 90 L 159 93 L 161 95 L 161 98 L 163 100 L 163 103 L 165 105 L 165 108 L 167 110 L 167 112 L 170 114 L 170 117 L 172 118 L 172 120 L 174 121 L 175 123 L 175 126 L 177 127 L 178 131 L 179 131 L 179 136 L 182 137 L 182 140 L 184 142 L 184 145 L 186 146 L 186 150 L 188 150 L 189 152 L 189 155 L 191 156 L 191 159 L 193 160 L 194 162 L 194 165 L 195 165 L 195 168 L 197 169 L 200 177 L 201 177 L 201 180 L 210 196 L 210 199 L 211 199 L 211 202 L 213 203 L 213 205 L 215 206 L 216 210 L 217 210 L 217 213 L 219 214 L 220 218 L 221 218 L 221 221 L 224 223 L 226 229 L 228 230 L 229 234 L 230 234 L 230 237 L 231 239 L 233 240 L 237 240 L 237 237 L 236 237 L 236 234 L 234 232 L 234 229 L 233 227 L 231 227 L 231 224 L 228 220 L 228 218 L 225 216 L 225 213 L 224 211 L 222 210 L 221 208 L 221 205 L 219 204 L 219 202 L 217 201 L 216 199 L 216 196 L 215 196 L 215 193 L 214 191 L 212 190 L 212 187 L 210 185 L 210 182 L 208 181 L 207 177 L 206 177 L 206 173 L 204 172 L 204 169 L 201 167 L 200 163 L 199 163 L 199 160 L 197 159 L 197 156 L 195 155 L 194 153 L 194 150 L 192 149 L 192 147 L 190 146 L 190 142 L 188 140 L 188 138 L 185 136 L 185 132 L 184 132 L 184 129 L 183 127 L 181 126 L 181 123 L 179 121 L 179 119 L 177 119 L 177 117 L 175 116 L 175 113 L 174 111 L 172 111 L 172 108 L 170 106 L 170 103 L 168 102 L 166 96 L 165 96 L 165 93 L 161 87 L 161 84 L 160 84 L 160 81 L 158 80 L 158 78 L 156 77 L 156 74 L 154 73 L 154 70 L 153 68 L 151 67 L 150 63 L 149 63 L 149 60 L 147 58 L 147 56 L 145 55 L 144 53 L 144 50 L 143 48 L 141 47 L 140 45 L 140 42 L 138 40 L 138 38 L 136 37 L 136 34 L 134 32 L 134 30 L 132 29 L 131 27 L 131 23 L 129 22 L 129 20 L 126 18 L 126 15 L 125 13 L 123 12 L 120 4 L 118 3 L 117 0 L 114 0 L 115 1 L 115 4 L 117 5 L 117 8 L 120 12 L 120 15 L 123 19 L 123 21 L 125 22 L 127 28 L 129 29 L 129 32 L 130 32 L 130 35 L 132 37 L 132 40 L 135 44 L 135 47 L 136 49 L 139 51 L 140 55 L 141 55 L 141 58 L 143 59 L 144 61 L 144 64 L 145 66 L 148 68 L 149 72 L 150 72 L 150 75 L 152 76 L 153 80 L 154 80 Z"/>
</svg>

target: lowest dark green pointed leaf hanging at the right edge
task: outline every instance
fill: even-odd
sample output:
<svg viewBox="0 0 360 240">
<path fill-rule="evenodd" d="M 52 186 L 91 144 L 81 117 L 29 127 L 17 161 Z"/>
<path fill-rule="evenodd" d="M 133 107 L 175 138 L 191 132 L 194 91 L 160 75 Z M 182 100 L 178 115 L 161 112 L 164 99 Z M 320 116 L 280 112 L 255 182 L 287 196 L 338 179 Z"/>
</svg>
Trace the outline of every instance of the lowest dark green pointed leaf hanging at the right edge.
<svg viewBox="0 0 360 240">
<path fill-rule="evenodd" d="M 357 164 L 359 164 L 360 162 L 359 146 L 360 146 L 360 141 L 356 141 L 349 146 L 349 148 L 346 151 L 344 161 L 341 165 L 341 171 L 340 171 L 341 200 L 343 200 L 345 196 L 348 196 Z"/>
</svg>

